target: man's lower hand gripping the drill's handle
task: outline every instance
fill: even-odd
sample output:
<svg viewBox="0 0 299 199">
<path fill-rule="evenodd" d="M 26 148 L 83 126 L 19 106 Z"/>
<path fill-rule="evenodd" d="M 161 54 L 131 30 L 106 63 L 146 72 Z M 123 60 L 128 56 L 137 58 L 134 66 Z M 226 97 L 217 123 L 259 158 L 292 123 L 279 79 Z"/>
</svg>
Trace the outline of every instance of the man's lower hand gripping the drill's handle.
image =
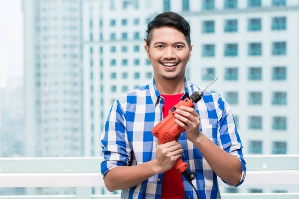
<svg viewBox="0 0 299 199">
<path fill-rule="evenodd" d="M 171 169 L 176 162 L 182 156 L 182 145 L 177 140 L 167 142 L 159 145 L 156 142 L 156 168 L 158 173 L 163 173 Z"/>
</svg>

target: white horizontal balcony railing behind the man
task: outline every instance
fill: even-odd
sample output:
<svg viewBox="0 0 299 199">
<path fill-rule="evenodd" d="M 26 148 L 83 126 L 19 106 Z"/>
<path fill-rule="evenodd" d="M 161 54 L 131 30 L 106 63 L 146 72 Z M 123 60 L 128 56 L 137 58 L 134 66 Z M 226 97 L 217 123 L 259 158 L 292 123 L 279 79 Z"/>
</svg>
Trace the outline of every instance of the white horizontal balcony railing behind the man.
<svg viewBox="0 0 299 199">
<path fill-rule="evenodd" d="M 299 185 L 299 155 L 245 156 L 244 185 Z M 0 199 L 120 199 L 92 195 L 104 187 L 100 157 L 0 158 L 0 187 L 76 187 L 76 195 L 0 196 Z M 225 185 L 218 180 L 219 185 Z M 225 185 L 226 186 L 226 185 Z M 299 193 L 221 194 L 222 199 L 298 199 Z"/>
</svg>

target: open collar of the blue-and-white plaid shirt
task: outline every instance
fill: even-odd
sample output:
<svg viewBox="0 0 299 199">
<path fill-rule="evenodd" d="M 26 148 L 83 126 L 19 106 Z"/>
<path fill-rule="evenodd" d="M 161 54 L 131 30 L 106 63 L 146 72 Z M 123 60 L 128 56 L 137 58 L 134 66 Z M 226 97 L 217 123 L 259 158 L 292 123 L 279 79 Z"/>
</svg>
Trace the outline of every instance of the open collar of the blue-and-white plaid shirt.
<svg viewBox="0 0 299 199">
<path fill-rule="evenodd" d="M 192 94 L 193 92 L 194 92 L 193 85 L 185 77 L 185 92 L 181 99 L 185 99 L 186 97 L 189 98 L 190 94 Z M 149 84 L 149 93 L 150 93 L 150 97 L 153 102 L 153 105 L 156 106 L 156 104 L 159 102 L 159 99 L 162 97 L 155 86 L 154 78 L 152 78 L 152 80 Z"/>
</svg>

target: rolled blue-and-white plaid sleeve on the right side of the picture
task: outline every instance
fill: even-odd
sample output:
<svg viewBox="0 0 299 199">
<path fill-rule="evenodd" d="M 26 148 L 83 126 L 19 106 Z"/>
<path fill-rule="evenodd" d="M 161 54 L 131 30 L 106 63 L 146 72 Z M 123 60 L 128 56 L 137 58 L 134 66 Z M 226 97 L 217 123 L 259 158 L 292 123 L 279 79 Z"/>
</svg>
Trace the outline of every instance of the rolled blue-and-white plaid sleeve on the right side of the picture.
<svg viewBox="0 0 299 199">
<path fill-rule="evenodd" d="M 222 181 L 230 187 L 238 187 L 244 182 L 246 176 L 246 162 L 244 160 L 242 152 L 243 145 L 241 143 L 234 116 L 228 102 L 223 98 L 219 98 L 218 105 L 219 111 L 221 111 L 221 113 L 219 114 L 220 119 L 218 119 L 218 146 L 226 152 L 236 156 L 240 160 L 242 165 L 241 181 L 237 186 L 231 185 L 224 180 Z"/>
</svg>

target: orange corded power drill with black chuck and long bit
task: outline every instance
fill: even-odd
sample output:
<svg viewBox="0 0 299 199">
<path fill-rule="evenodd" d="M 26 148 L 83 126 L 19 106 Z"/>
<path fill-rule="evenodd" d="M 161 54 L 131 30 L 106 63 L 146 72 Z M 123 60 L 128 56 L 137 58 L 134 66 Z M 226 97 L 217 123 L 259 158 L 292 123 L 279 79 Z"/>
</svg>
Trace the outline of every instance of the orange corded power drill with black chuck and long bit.
<svg viewBox="0 0 299 199">
<path fill-rule="evenodd" d="M 152 128 L 151 133 L 153 134 L 153 136 L 157 138 L 159 144 L 165 144 L 166 142 L 171 142 L 180 138 L 180 134 L 184 131 L 184 128 L 175 123 L 175 110 L 180 106 L 195 108 L 194 103 L 197 103 L 199 100 L 201 100 L 203 92 L 207 88 L 209 88 L 217 79 L 218 78 L 216 78 L 211 84 L 209 84 L 203 91 L 194 92 L 190 96 L 191 100 L 189 100 L 188 98 L 180 100 L 176 105 L 169 109 L 168 115 Z M 185 178 L 187 178 L 188 181 L 192 181 L 193 179 L 195 179 L 195 173 L 186 174 L 185 171 L 187 169 L 187 166 L 188 164 L 186 162 L 183 162 L 181 158 L 178 159 L 173 165 L 173 167 L 178 172 L 183 173 L 183 175 L 185 176 Z"/>
</svg>

